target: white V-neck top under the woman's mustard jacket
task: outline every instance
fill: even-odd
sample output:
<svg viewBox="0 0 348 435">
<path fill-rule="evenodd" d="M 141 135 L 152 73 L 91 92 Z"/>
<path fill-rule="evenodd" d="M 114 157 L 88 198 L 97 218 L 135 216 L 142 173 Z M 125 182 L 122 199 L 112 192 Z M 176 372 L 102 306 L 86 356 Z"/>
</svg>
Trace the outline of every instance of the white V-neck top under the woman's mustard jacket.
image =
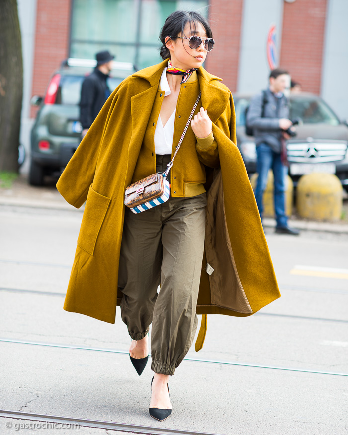
<svg viewBox="0 0 348 435">
<path fill-rule="evenodd" d="M 171 89 L 168 84 L 166 76 L 167 67 L 164 68 L 160 80 L 160 89 L 164 91 L 165 96 L 170 95 Z M 163 126 L 161 116 L 158 116 L 155 129 L 155 154 L 172 154 L 173 136 L 174 136 L 174 124 L 175 124 L 175 113 L 171 114 L 170 118 Z"/>
</svg>

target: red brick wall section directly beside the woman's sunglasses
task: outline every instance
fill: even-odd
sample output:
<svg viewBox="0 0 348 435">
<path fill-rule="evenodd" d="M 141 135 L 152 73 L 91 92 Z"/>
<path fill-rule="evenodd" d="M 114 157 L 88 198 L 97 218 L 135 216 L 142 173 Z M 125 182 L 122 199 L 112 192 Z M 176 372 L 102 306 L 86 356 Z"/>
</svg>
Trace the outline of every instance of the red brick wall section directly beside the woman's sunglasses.
<svg viewBox="0 0 348 435">
<path fill-rule="evenodd" d="M 208 53 L 206 69 L 223 79 L 235 92 L 237 89 L 243 0 L 210 0 L 209 22 L 215 39 Z"/>
</svg>

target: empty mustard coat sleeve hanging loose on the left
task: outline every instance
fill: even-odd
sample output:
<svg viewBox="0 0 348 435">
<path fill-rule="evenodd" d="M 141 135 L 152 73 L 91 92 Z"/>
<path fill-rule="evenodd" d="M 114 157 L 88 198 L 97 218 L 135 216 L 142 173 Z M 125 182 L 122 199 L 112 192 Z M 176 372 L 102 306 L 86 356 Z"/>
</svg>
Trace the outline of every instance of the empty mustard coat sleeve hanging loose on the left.
<svg viewBox="0 0 348 435">
<path fill-rule="evenodd" d="M 123 82 L 122 82 L 123 83 Z M 93 182 L 102 139 L 122 83 L 110 95 L 57 182 L 64 199 L 80 208 Z"/>
</svg>

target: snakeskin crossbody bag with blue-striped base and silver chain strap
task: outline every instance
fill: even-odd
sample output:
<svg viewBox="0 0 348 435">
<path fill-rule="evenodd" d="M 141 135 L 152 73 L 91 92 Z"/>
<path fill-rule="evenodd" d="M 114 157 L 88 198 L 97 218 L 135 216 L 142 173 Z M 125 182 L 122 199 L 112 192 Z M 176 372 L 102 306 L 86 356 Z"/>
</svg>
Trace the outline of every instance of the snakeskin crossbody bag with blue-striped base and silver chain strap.
<svg viewBox="0 0 348 435">
<path fill-rule="evenodd" d="M 169 170 L 173 166 L 173 161 L 177 152 L 180 149 L 183 138 L 185 137 L 188 126 L 190 125 L 194 111 L 196 110 L 197 104 L 200 100 L 201 93 L 199 92 L 198 98 L 194 103 L 192 112 L 186 123 L 186 127 L 183 130 L 179 143 L 176 147 L 175 154 L 172 160 L 167 165 L 166 171 L 157 172 L 130 184 L 125 191 L 124 203 L 129 207 L 133 213 L 141 213 L 142 211 L 148 210 L 149 208 L 156 207 L 156 205 L 163 204 L 168 201 L 170 196 L 170 184 L 167 179 Z"/>
</svg>

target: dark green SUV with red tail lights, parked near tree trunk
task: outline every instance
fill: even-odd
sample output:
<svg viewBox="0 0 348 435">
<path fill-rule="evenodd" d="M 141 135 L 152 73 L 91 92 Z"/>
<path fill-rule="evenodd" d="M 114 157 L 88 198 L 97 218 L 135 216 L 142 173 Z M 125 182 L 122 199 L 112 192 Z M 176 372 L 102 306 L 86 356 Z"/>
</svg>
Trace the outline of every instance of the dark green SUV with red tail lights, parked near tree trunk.
<svg viewBox="0 0 348 435">
<path fill-rule="evenodd" d="M 31 130 L 29 184 L 41 186 L 45 175 L 61 172 L 80 143 L 80 92 L 84 77 L 91 73 L 93 60 L 68 59 L 56 71 L 44 97 L 34 96 L 40 106 Z M 126 62 L 114 62 L 108 86 L 113 91 L 136 71 Z"/>
</svg>

